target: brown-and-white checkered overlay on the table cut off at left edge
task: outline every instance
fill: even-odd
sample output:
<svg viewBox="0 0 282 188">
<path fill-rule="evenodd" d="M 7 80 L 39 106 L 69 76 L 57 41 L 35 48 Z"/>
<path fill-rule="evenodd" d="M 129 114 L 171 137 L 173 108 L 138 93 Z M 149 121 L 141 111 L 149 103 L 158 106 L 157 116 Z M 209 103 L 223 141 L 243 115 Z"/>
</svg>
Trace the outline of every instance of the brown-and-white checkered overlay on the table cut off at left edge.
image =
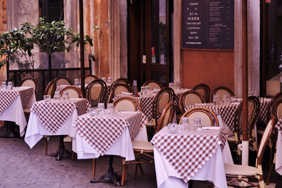
<svg viewBox="0 0 282 188">
<path fill-rule="evenodd" d="M 21 95 L 21 104 L 23 108 L 27 107 L 35 92 L 32 87 L 13 87 L 13 89 L 0 90 L 0 114 L 17 98 Z"/>
</svg>

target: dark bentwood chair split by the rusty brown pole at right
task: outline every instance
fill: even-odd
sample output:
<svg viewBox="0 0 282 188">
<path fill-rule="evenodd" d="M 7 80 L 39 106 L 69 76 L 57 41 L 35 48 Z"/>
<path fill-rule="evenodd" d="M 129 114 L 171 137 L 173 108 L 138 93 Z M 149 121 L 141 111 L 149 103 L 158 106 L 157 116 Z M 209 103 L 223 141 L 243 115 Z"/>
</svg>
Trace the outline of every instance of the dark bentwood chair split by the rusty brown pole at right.
<svg viewBox="0 0 282 188">
<path fill-rule="evenodd" d="M 255 140 L 255 121 L 257 120 L 257 116 L 259 114 L 259 99 L 255 96 L 248 97 L 248 129 L 249 131 L 249 145 L 254 147 L 251 151 L 257 151 L 257 142 Z M 238 152 L 239 143 L 241 143 L 243 139 L 243 134 L 240 134 L 240 129 L 243 128 L 242 125 L 242 103 L 239 104 L 235 111 L 234 116 L 234 136 L 228 136 L 227 141 L 233 151 Z M 235 145 L 237 147 L 235 147 Z M 239 164 L 241 164 L 241 151 L 238 152 L 239 155 Z"/>
</svg>

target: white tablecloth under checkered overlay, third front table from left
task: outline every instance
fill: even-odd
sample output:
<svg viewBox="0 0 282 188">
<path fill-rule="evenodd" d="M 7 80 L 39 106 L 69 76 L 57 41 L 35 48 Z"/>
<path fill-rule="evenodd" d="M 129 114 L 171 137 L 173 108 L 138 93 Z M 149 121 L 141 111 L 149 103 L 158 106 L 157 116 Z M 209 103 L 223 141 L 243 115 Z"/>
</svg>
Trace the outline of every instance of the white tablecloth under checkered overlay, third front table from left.
<svg viewBox="0 0 282 188">
<path fill-rule="evenodd" d="M 78 159 L 98 158 L 100 154 L 85 141 L 78 132 L 72 132 L 72 151 L 77 153 Z M 148 141 L 146 126 L 144 126 L 134 140 Z M 125 157 L 125 160 L 135 160 L 128 126 L 116 139 L 111 147 L 105 152 L 106 155 L 118 155 Z"/>
</svg>

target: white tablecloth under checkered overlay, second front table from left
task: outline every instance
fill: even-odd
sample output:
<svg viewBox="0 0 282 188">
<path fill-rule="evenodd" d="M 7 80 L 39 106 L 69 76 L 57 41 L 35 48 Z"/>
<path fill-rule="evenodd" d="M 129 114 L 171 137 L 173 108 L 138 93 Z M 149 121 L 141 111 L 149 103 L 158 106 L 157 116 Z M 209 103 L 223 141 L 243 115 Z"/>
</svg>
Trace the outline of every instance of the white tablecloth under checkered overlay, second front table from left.
<svg viewBox="0 0 282 188">
<path fill-rule="evenodd" d="M 74 121 L 78 117 L 77 110 L 74 108 L 67 120 L 61 125 L 54 135 L 70 135 L 75 129 L 72 127 Z M 74 129 L 74 130 L 73 130 Z M 31 112 L 27 125 L 27 133 L 25 134 L 25 142 L 32 148 L 44 135 L 51 134 L 39 121 L 36 115 Z"/>
</svg>

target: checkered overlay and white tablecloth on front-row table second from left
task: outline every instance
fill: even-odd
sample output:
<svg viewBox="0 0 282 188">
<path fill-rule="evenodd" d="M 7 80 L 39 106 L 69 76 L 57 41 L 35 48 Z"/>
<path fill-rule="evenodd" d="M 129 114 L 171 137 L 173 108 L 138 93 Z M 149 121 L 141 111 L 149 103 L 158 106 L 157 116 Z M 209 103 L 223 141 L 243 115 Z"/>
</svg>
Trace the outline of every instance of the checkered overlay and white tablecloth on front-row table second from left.
<svg viewBox="0 0 282 188">
<path fill-rule="evenodd" d="M 32 148 L 44 135 L 70 135 L 76 118 L 88 112 L 87 99 L 38 101 L 30 109 L 25 142 Z"/>
</svg>

